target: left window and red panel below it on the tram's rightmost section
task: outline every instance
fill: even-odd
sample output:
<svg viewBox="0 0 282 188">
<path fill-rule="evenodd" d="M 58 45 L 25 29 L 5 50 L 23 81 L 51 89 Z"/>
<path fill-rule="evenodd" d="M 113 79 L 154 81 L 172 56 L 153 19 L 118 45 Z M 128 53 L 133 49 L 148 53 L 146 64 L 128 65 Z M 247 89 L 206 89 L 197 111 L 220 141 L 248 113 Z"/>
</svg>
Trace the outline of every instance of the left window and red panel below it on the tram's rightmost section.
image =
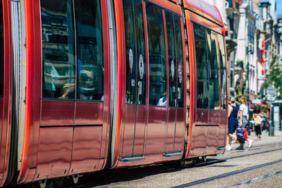
<svg viewBox="0 0 282 188">
<path fill-rule="evenodd" d="M 206 152 L 209 126 L 209 68 L 207 62 L 207 40 L 205 28 L 193 23 L 195 35 L 195 57 L 197 75 L 196 117 L 192 144 L 196 155 Z"/>
</svg>

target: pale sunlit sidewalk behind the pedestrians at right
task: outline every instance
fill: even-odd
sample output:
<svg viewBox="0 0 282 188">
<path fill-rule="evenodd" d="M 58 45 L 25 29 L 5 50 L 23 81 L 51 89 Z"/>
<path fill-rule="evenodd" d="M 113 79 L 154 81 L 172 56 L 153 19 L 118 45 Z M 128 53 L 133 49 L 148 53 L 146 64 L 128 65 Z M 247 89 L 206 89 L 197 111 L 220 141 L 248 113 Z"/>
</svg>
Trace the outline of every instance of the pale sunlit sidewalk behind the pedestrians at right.
<svg viewBox="0 0 282 188">
<path fill-rule="evenodd" d="M 255 135 L 255 132 L 251 132 L 251 135 L 249 136 L 248 135 L 248 138 L 249 139 L 252 139 L 254 140 L 252 146 L 259 146 L 259 145 L 262 145 L 262 144 L 269 144 L 269 143 L 275 143 L 275 142 L 281 142 L 282 143 L 282 134 L 281 135 L 276 135 L 276 136 L 269 136 L 268 134 L 265 135 L 265 134 L 262 134 L 262 139 L 261 140 L 257 140 L 257 136 Z M 247 144 L 248 142 L 245 142 L 245 149 L 247 149 Z M 239 146 L 239 144 L 234 144 L 232 142 L 231 144 L 231 149 L 232 150 L 235 150 L 237 147 Z"/>
</svg>

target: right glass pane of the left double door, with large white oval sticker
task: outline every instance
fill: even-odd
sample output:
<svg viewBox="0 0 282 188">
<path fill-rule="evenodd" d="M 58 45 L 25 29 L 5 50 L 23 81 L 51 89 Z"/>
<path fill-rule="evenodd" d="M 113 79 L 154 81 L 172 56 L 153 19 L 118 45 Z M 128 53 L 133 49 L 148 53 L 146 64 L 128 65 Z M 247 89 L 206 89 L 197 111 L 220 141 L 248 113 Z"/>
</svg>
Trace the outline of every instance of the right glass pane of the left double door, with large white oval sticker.
<svg viewBox="0 0 282 188">
<path fill-rule="evenodd" d="M 142 1 L 135 0 L 135 29 L 137 49 L 137 104 L 146 104 L 146 45 Z"/>
</svg>

